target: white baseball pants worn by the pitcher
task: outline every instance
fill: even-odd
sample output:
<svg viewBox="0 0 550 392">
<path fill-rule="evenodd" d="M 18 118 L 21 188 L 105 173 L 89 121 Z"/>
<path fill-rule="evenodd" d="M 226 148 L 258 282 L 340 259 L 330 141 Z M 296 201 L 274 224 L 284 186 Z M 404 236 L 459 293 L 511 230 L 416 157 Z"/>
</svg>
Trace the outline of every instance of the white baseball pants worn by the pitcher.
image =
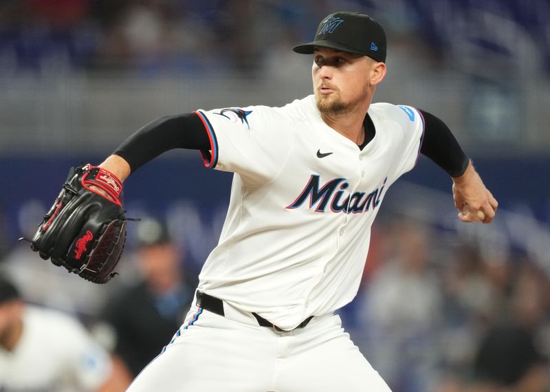
<svg viewBox="0 0 550 392">
<path fill-rule="evenodd" d="M 336 315 L 278 332 L 252 314 L 192 307 L 129 392 L 388 392 Z M 390 391 L 391 392 L 391 391 Z"/>
</svg>

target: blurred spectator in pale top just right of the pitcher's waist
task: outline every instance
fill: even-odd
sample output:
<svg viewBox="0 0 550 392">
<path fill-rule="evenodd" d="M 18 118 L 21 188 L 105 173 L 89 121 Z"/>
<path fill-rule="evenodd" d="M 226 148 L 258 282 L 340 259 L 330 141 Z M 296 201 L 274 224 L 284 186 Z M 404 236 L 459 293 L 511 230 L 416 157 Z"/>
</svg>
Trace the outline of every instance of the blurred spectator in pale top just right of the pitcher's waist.
<svg viewBox="0 0 550 392">
<path fill-rule="evenodd" d="M 437 380 L 443 316 L 430 230 L 400 219 L 391 233 L 393 254 L 375 272 L 360 310 L 366 352 L 392 391 L 426 392 Z"/>
</svg>

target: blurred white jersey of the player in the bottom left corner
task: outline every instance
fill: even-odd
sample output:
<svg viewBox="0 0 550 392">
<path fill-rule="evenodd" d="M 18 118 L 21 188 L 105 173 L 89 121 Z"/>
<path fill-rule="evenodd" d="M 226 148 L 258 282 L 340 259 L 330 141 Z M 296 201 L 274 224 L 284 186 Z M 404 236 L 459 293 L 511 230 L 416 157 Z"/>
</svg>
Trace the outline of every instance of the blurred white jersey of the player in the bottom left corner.
<svg viewBox="0 0 550 392">
<path fill-rule="evenodd" d="M 77 320 L 26 306 L 14 351 L 0 348 L 0 391 L 96 391 L 109 376 L 108 354 Z"/>
</svg>

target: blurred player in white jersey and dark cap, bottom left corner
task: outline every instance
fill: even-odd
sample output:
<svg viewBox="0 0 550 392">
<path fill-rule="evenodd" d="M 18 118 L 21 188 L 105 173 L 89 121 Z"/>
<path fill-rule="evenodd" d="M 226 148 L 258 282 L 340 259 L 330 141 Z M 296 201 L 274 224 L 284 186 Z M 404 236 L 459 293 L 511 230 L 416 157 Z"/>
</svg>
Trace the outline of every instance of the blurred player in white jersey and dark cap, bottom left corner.
<svg viewBox="0 0 550 392">
<path fill-rule="evenodd" d="M 0 391 L 120 391 L 119 373 L 78 320 L 27 305 L 0 275 Z"/>
</svg>

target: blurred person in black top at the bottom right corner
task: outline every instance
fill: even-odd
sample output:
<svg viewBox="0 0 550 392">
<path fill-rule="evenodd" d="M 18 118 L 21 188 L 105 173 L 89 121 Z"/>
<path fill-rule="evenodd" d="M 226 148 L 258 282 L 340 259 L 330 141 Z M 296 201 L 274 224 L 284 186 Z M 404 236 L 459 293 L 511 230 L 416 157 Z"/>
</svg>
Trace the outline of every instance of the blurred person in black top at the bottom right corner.
<svg viewBox="0 0 550 392">
<path fill-rule="evenodd" d="M 528 257 L 509 264 L 506 309 L 481 336 L 471 375 L 481 391 L 550 391 L 550 362 L 541 350 L 550 342 L 549 279 Z"/>
</svg>

